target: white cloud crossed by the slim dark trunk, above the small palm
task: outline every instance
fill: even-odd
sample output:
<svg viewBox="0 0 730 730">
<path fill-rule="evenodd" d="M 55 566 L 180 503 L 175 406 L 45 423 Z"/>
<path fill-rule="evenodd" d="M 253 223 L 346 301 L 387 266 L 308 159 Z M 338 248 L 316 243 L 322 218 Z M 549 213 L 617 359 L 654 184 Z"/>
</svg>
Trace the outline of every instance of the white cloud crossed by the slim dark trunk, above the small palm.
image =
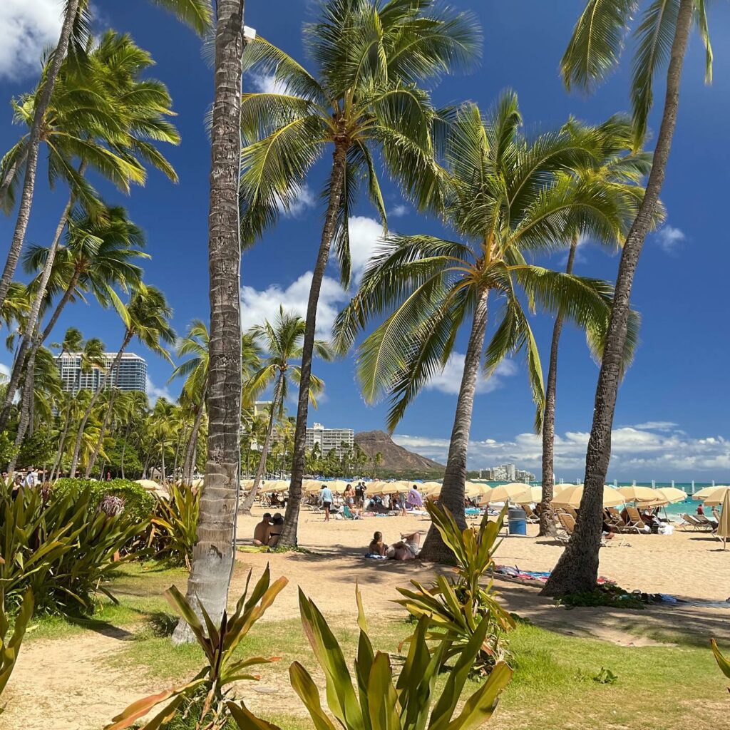
<svg viewBox="0 0 730 730">
<path fill-rule="evenodd" d="M 263 290 L 253 286 L 241 287 L 241 319 L 243 328 L 248 329 L 255 324 L 261 324 L 265 319 L 272 320 L 279 306 L 294 312 L 304 318 L 307 315 L 307 300 L 312 285 L 312 272 L 305 272 L 301 276 L 282 288 L 279 284 L 272 284 Z M 329 337 L 334 319 L 342 305 L 349 299 L 337 280 L 324 277 L 320 291 L 319 306 L 317 308 L 317 334 L 319 337 Z"/>
</svg>

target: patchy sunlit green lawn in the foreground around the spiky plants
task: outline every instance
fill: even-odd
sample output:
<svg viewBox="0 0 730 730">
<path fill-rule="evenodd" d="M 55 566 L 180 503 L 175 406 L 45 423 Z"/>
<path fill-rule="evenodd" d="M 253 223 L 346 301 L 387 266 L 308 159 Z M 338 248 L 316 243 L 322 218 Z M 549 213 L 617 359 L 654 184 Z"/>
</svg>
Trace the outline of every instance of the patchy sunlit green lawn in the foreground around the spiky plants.
<svg viewBox="0 0 730 730">
<path fill-rule="evenodd" d="M 182 585 L 185 572 L 154 565 L 126 566 L 113 589 L 119 605 L 105 603 L 93 621 L 39 621 L 30 640 L 70 636 L 77 631 L 110 626 L 126 629 L 131 640 L 107 661 L 142 672 L 160 689 L 192 677 L 201 667 L 195 645 L 174 647 L 169 633 L 172 610 L 161 597 L 170 583 Z M 347 656 L 356 651 L 357 626 L 342 615 L 333 630 Z M 637 623 L 640 624 L 637 614 Z M 370 618 L 375 648 L 398 655 L 399 642 L 412 625 L 401 620 Z M 515 675 L 504 692 L 494 726 L 517 730 L 588 729 L 594 726 L 665 730 L 691 727 L 715 729 L 726 722 L 730 700 L 726 681 L 709 649 L 691 644 L 623 647 L 546 631 L 519 623 L 510 635 L 511 664 Z M 315 680 L 316 662 L 297 619 L 261 621 L 242 643 L 250 656 L 280 656 L 276 664 L 260 669 L 262 694 L 251 686 L 239 688 L 258 714 L 285 730 L 312 730 L 302 716 L 299 699 L 288 684 L 288 666 L 299 660 Z M 596 681 L 608 669 L 613 683 Z M 321 679 L 321 677 L 320 677 Z M 477 685 L 473 685 L 472 690 Z"/>
</svg>

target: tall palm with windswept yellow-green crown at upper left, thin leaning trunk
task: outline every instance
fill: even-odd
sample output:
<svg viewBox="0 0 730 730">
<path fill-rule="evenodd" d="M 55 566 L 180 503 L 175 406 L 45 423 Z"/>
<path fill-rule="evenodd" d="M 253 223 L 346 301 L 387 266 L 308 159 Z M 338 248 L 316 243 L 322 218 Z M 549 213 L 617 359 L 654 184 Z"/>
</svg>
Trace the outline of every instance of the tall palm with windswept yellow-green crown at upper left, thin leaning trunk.
<svg viewBox="0 0 730 730">
<path fill-rule="evenodd" d="M 53 242 L 40 259 L 43 267 L 34 283 L 35 299 L 6 400 L 12 401 L 15 396 L 20 370 L 26 363 L 26 351 L 30 347 L 28 360 L 31 360 L 33 347 L 39 347 L 42 342 L 36 332 L 37 318 L 45 301 L 61 235 L 74 204 L 81 201 L 94 220 L 106 212 L 85 180 L 87 166 L 104 174 L 124 191 L 129 190 L 131 182 L 145 182 L 143 162 L 149 162 L 171 180 L 177 180 L 172 166 L 149 141 L 180 142 L 177 130 L 165 119 L 172 114 L 172 100 L 164 84 L 140 78 L 152 63 L 150 55 L 134 45 L 128 36 L 108 31 L 84 64 L 68 64 L 69 68 L 61 69 L 41 139 L 49 152 L 51 180 L 63 174 L 69 184 L 69 200 L 56 226 Z M 21 122 L 30 123 L 35 96 L 28 95 L 15 104 L 16 117 Z M 92 99 L 93 104 L 84 103 L 86 99 Z M 2 165 L 8 166 L 17 155 L 22 155 L 26 143 L 25 137 L 21 139 L 5 156 Z M 74 167 L 74 158 L 80 160 L 78 169 Z M 12 184 L 9 190 L 12 191 Z M 113 292 L 112 285 L 113 282 L 108 288 Z M 120 304 L 118 297 L 116 301 Z M 31 340 L 36 344 L 32 345 Z M 28 372 L 32 372 L 32 367 Z M 4 423 L 0 422 L 0 428 L 2 426 Z"/>
</svg>

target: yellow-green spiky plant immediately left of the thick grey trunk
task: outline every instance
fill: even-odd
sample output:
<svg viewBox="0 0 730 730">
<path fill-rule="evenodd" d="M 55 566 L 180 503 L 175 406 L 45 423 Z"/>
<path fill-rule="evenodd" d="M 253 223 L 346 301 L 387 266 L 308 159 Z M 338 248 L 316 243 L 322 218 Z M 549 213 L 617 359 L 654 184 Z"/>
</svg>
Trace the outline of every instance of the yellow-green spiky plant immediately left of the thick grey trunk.
<svg viewBox="0 0 730 730">
<path fill-rule="evenodd" d="M 197 542 L 201 490 L 187 485 L 168 487 L 169 497 L 158 496 L 152 524 L 155 555 L 190 570 Z"/>
</svg>

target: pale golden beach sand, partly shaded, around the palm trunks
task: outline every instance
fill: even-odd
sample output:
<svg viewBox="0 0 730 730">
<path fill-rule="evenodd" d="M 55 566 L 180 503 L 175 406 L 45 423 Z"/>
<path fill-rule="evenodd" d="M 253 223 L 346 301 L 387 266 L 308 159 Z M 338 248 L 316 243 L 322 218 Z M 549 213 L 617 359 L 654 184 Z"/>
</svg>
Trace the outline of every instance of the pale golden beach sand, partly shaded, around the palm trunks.
<svg viewBox="0 0 730 730">
<path fill-rule="evenodd" d="M 262 510 L 255 510 L 255 515 Z M 256 516 L 239 518 L 239 537 L 253 533 Z M 301 514 L 299 542 L 309 553 L 239 553 L 243 570 L 231 585 L 231 599 L 241 591 L 246 570 L 257 575 L 266 563 L 272 575 L 285 575 L 290 583 L 266 614 L 265 621 L 298 614 L 296 586 L 315 599 L 328 617 L 354 622 L 354 584 L 361 586 L 366 612 L 371 616 L 402 615 L 393 604 L 396 586 L 408 580 L 428 580 L 432 566 L 418 561 L 366 561 L 364 548 L 374 530 L 386 542 L 399 533 L 421 529 L 429 520 L 420 517 L 365 518 L 355 522 L 331 520 L 309 511 Z M 529 537 L 505 537 L 496 553 L 500 564 L 521 569 L 550 570 L 561 554 L 560 545 Z M 690 601 L 724 601 L 730 596 L 730 550 L 704 534 L 677 531 L 671 536 L 631 535 L 626 547 L 602 548 L 601 574 L 628 590 L 670 593 Z M 592 636 L 624 646 L 670 642 L 677 633 L 694 634 L 703 643 L 715 635 L 730 640 L 729 607 L 651 607 L 645 611 L 576 609 L 566 611 L 539 595 L 537 588 L 496 581 L 507 607 L 534 623 L 566 634 Z M 182 586 L 181 586 L 182 587 Z M 110 717 L 139 696 L 158 691 L 159 683 L 143 672 L 130 675 L 110 667 L 108 659 L 123 650 L 128 632 L 101 635 L 85 632 L 57 641 L 29 642 L 4 695 L 9 703 L 0 715 L 0 730 L 99 729 Z M 261 697 L 261 704 L 267 702 Z M 256 703 L 258 704 L 258 703 Z"/>
</svg>

